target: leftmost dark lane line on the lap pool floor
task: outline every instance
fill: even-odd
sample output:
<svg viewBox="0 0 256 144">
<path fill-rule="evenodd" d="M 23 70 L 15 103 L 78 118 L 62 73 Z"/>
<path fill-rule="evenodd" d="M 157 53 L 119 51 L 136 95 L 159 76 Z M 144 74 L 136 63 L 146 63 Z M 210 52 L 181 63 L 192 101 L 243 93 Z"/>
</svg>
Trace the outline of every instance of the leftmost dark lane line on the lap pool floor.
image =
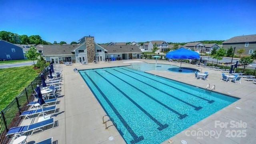
<svg viewBox="0 0 256 144">
<path fill-rule="evenodd" d="M 86 74 L 86 72 L 84 72 L 84 74 Z M 100 90 L 100 88 L 97 86 L 97 84 L 92 80 L 92 78 L 90 78 L 90 76 L 88 74 L 86 74 L 86 76 L 90 79 L 90 81 L 92 82 L 92 84 L 95 86 L 95 88 L 97 88 L 97 90 L 100 92 L 100 94 L 102 94 L 103 98 L 106 100 L 106 102 L 108 103 L 108 105 L 110 106 L 110 108 L 112 108 L 112 110 L 115 112 L 116 116 L 120 119 L 120 121 L 122 122 L 122 124 L 124 125 L 124 127 L 128 130 L 128 132 L 130 133 L 130 135 L 132 136 L 133 140 L 131 140 L 130 142 L 132 144 L 138 143 L 142 140 L 144 140 L 143 136 L 137 136 L 135 134 L 135 132 L 132 130 L 132 128 L 127 124 L 127 122 L 124 120 L 124 118 L 121 116 L 121 114 L 118 112 L 118 110 L 116 110 L 116 108 L 113 106 L 113 104 L 110 102 L 110 100 L 108 100 L 108 98 L 106 97 L 106 95 Z"/>
</svg>

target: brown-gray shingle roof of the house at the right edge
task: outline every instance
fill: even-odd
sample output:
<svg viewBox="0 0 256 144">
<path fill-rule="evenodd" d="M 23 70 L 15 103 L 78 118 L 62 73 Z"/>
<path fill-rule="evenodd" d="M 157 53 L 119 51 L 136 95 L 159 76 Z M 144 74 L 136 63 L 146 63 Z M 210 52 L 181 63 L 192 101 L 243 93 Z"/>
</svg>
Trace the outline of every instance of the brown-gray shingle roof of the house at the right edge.
<svg viewBox="0 0 256 144">
<path fill-rule="evenodd" d="M 239 42 L 256 42 L 256 34 L 246 35 L 246 36 L 235 36 L 228 40 L 222 42 L 222 44 L 227 43 L 239 43 Z"/>
</svg>

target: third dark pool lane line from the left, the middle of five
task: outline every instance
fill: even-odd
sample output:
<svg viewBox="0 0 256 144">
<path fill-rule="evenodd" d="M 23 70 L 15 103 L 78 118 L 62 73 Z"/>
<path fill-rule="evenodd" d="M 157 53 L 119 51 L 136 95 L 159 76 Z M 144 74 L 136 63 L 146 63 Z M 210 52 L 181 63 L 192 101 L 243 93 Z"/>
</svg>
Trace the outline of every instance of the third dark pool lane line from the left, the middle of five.
<svg viewBox="0 0 256 144">
<path fill-rule="evenodd" d="M 106 72 L 108 72 L 108 71 L 106 71 Z M 108 73 L 111 74 L 110 72 L 108 72 Z M 111 74 L 111 75 L 115 76 L 114 74 Z M 118 78 L 118 79 L 120 79 L 120 80 L 122 80 L 121 78 L 119 78 L 119 77 L 117 77 L 117 76 L 115 76 L 115 77 Z M 132 84 L 130 84 L 130 83 L 124 81 L 124 80 L 122 80 L 122 81 L 125 82 L 126 84 L 132 86 L 132 87 L 135 88 L 136 90 L 140 91 L 141 93 L 145 94 L 146 96 L 148 96 L 148 97 L 151 98 L 152 100 L 158 102 L 160 105 L 164 106 L 164 107 L 167 108 L 168 110 L 174 112 L 175 114 L 177 114 L 177 115 L 179 116 L 180 119 L 183 119 L 183 118 L 185 118 L 186 116 L 188 116 L 187 114 L 180 114 L 179 112 L 177 112 L 176 110 L 174 110 L 174 109 L 170 108 L 169 106 L 163 104 L 163 103 L 160 102 L 159 100 L 156 100 L 155 98 L 153 98 L 153 97 L 150 96 L 149 94 L 147 94 L 147 93 L 143 92 L 142 90 L 136 88 L 136 87 L 133 86 Z"/>
</svg>

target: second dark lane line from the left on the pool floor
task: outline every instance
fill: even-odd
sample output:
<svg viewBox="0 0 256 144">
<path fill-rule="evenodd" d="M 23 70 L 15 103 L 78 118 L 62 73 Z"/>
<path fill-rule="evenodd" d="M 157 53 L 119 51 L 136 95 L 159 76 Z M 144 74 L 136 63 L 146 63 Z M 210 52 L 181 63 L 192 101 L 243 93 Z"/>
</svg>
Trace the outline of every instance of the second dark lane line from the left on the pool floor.
<svg viewBox="0 0 256 144">
<path fill-rule="evenodd" d="M 107 71 L 106 71 L 107 72 Z M 104 78 L 104 76 L 102 76 L 101 74 L 99 74 L 98 72 L 96 72 L 98 75 L 100 75 L 102 78 Z M 168 124 L 161 124 L 156 118 L 154 118 L 150 113 L 148 113 L 146 110 L 144 110 L 144 108 L 142 108 L 139 104 L 137 104 L 134 100 L 132 100 L 132 98 L 130 98 L 127 94 L 125 94 L 122 90 L 120 90 L 118 87 L 116 87 L 112 82 L 110 82 L 109 80 L 107 80 L 106 78 L 104 78 L 109 84 L 111 84 L 112 86 L 114 86 L 114 88 L 116 88 L 116 90 L 118 90 L 121 94 L 123 94 L 126 98 L 128 98 L 128 100 L 130 100 L 135 106 L 137 106 L 142 112 L 144 112 L 144 114 L 146 114 L 151 120 L 153 120 L 159 127 L 157 128 L 158 130 L 163 130 L 164 128 L 168 127 Z"/>
</svg>

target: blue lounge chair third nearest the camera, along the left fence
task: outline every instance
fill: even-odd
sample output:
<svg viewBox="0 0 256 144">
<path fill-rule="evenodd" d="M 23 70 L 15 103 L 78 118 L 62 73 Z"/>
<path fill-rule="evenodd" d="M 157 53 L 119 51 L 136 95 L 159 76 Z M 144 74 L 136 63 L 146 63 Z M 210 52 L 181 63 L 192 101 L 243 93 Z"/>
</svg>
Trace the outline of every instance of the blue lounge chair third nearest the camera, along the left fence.
<svg viewBox="0 0 256 144">
<path fill-rule="evenodd" d="M 49 112 L 51 110 L 56 110 L 56 106 L 50 106 L 50 107 L 46 107 L 46 108 L 39 108 L 37 110 L 28 110 L 28 111 L 24 111 L 22 112 L 22 114 L 20 116 L 26 116 L 27 118 L 29 118 L 29 116 L 33 116 L 35 114 L 41 115 L 41 114 L 45 114 L 45 112 Z M 46 114 L 45 114 L 46 115 Z"/>
</svg>

